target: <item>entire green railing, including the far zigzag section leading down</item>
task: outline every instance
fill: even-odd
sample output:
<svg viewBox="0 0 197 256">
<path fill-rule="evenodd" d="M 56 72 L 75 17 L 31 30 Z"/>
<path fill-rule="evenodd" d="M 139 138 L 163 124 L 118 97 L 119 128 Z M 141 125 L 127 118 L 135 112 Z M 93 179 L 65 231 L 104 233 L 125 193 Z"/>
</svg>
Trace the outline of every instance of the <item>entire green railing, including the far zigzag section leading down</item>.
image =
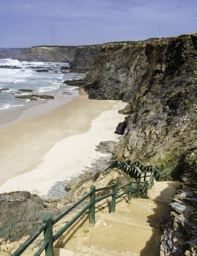
<svg viewBox="0 0 197 256">
<path fill-rule="evenodd" d="M 134 164 L 136 163 L 136 164 Z M 42 246 L 34 253 L 34 256 L 39 256 L 45 250 L 45 255 L 54 256 L 53 243 L 71 227 L 74 222 L 77 222 L 82 214 L 88 211 L 90 225 L 95 224 L 95 208 L 96 203 L 101 200 L 111 197 L 111 209 L 115 211 L 116 200 L 123 195 L 128 196 L 128 202 L 131 202 L 132 197 L 143 196 L 147 198 L 147 190 L 154 184 L 155 178 L 160 178 L 160 173 L 155 167 L 145 167 L 140 162 L 131 162 L 130 160 L 120 162 L 119 159 L 115 160 L 112 165 L 107 167 L 107 170 L 112 167 L 118 167 L 128 175 L 133 175 L 136 181 L 129 180 L 127 183 L 120 187 L 117 187 L 117 181 L 114 181 L 112 185 L 107 187 L 97 188 L 92 185 L 90 191 L 77 200 L 72 206 L 69 206 L 65 211 L 59 214 L 57 217 L 52 218 L 51 214 L 45 214 L 43 217 L 43 224 L 36 230 L 33 236 L 28 238 L 11 256 L 21 255 L 30 246 L 33 241 L 41 234 L 44 234 Z M 143 169 L 143 170 L 142 170 Z M 132 177 L 132 176 L 131 176 Z M 149 177 L 149 178 L 148 178 Z M 148 179 L 147 179 L 148 178 Z M 101 195 L 104 194 L 104 195 Z M 84 202 L 85 201 L 85 202 Z M 80 205 L 80 203 L 86 203 L 85 206 L 64 225 L 57 233 L 53 234 L 53 225 L 55 225 L 60 219 L 69 214 L 74 208 Z"/>
</svg>

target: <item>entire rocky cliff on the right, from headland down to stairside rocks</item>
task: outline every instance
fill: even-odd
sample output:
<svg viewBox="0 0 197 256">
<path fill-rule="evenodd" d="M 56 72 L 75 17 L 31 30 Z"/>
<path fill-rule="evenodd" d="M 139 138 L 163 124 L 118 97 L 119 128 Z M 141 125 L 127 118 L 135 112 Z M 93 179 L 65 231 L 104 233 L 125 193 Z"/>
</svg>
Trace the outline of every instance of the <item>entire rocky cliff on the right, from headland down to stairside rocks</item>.
<svg viewBox="0 0 197 256">
<path fill-rule="evenodd" d="M 101 45 L 85 89 L 128 102 L 115 157 L 182 181 L 163 220 L 161 255 L 196 255 L 197 34 Z"/>
</svg>

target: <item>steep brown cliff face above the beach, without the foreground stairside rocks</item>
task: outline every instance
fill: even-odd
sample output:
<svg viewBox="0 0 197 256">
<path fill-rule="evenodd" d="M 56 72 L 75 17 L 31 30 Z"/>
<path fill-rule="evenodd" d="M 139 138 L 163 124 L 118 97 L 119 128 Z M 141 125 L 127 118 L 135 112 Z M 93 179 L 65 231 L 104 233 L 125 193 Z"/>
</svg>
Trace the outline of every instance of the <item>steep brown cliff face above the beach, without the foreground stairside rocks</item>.
<svg viewBox="0 0 197 256">
<path fill-rule="evenodd" d="M 197 34 L 101 45 L 85 89 L 128 102 L 119 157 L 175 166 L 196 145 Z"/>
</svg>

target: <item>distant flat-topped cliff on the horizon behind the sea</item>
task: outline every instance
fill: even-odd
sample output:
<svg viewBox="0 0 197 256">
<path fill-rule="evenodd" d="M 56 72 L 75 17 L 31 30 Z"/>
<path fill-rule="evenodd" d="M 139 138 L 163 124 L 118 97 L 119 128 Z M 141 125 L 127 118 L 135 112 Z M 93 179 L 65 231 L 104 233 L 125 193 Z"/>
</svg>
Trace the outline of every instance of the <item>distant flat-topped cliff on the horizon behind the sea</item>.
<svg viewBox="0 0 197 256">
<path fill-rule="evenodd" d="M 99 45 L 0 48 L 0 59 L 69 62 L 73 72 L 87 72 L 92 66 L 99 48 Z"/>
</svg>

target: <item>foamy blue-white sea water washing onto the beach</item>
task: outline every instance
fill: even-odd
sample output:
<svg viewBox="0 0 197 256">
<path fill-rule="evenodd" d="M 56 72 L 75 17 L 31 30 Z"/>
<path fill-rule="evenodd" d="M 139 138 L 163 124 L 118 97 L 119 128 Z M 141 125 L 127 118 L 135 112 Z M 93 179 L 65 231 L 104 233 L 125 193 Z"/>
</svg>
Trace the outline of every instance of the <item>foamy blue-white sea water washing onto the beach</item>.
<svg viewBox="0 0 197 256">
<path fill-rule="evenodd" d="M 12 121 L 34 105 L 51 105 L 55 101 L 53 104 L 57 106 L 76 96 L 76 87 L 67 86 L 63 81 L 81 78 L 81 75 L 63 73 L 61 67 L 69 67 L 69 63 L 0 59 L 0 124 Z M 50 95 L 54 100 L 17 98 L 31 94 Z"/>
</svg>

